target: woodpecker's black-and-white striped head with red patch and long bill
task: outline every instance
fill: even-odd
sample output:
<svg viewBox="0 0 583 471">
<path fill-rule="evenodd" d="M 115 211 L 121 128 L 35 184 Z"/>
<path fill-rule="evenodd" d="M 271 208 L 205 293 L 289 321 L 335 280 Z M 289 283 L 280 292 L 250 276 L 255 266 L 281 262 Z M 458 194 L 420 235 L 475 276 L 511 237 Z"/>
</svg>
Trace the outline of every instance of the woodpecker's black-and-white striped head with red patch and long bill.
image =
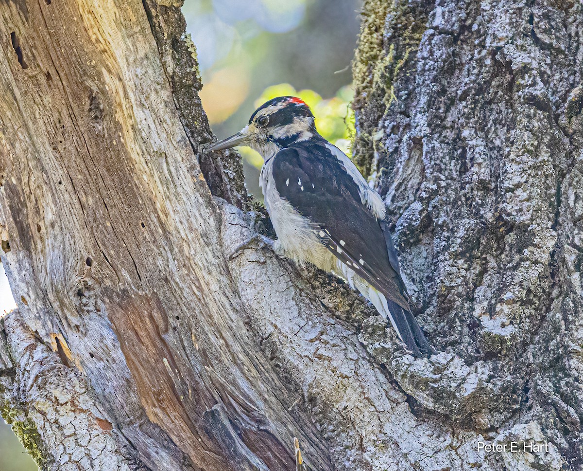
<svg viewBox="0 0 583 471">
<path fill-rule="evenodd" d="M 294 96 L 279 96 L 262 104 L 251 115 L 248 125 L 210 150 L 247 145 L 267 159 L 280 149 L 315 134 L 314 115 L 308 105 Z"/>
</svg>

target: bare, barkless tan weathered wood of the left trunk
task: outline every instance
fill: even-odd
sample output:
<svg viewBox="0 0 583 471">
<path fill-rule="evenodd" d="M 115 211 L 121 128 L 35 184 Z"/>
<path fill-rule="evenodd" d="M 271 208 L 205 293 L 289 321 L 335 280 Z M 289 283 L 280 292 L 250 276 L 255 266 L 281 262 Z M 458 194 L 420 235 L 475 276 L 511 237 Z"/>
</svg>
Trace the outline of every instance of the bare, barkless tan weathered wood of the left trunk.
<svg viewBox="0 0 583 471">
<path fill-rule="evenodd" d="M 298 436 L 330 469 L 245 329 L 143 4 L 3 3 L 0 37 L 3 261 L 27 327 L 143 466 L 290 469 Z"/>
</svg>

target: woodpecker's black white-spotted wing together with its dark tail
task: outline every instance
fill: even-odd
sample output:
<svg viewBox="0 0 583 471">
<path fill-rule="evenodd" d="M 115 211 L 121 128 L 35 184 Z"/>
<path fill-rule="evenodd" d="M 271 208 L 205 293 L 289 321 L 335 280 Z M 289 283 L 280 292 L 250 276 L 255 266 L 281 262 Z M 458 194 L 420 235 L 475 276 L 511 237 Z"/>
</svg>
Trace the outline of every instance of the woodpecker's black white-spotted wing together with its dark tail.
<svg viewBox="0 0 583 471">
<path fill-rule="evenodd" d="M 325 145 L 303 141 L 276 153 L 272 176 L 279 195 L 311 219 L 328 249 L 385 296 L 403 342 L 413 351 L 426 350 L 429 344 L 410 313 L 390 234 L 363 203 L 342 162 Z"/>
</svg>

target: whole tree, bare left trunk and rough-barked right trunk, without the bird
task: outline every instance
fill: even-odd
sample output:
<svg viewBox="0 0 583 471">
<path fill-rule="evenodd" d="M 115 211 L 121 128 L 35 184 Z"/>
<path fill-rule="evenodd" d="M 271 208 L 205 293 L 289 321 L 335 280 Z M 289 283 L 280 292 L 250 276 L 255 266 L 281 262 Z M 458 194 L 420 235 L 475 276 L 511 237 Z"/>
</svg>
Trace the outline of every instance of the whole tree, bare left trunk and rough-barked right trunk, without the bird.
<svg viewBox="0 0 583 471">
<path fill-rule="evenodd" d="M 41 468 L 289 470 L 295 436 L 319 471 L 580 469 L 582 23 L 365 3 L 357 158 L 444 351 L 413 360 L 257 238 L 180 2 L 0 4 L 0 407 Z"/>
</svg>

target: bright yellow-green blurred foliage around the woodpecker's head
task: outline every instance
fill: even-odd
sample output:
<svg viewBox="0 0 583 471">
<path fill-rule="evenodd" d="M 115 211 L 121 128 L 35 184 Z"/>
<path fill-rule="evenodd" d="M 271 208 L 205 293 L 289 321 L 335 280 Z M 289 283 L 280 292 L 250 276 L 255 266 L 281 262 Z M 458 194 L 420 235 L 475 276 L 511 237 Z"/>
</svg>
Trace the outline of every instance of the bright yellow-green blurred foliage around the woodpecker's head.
<svg viewBox="0 0 583 471">
<path fill-rule="evenodd" d="M 289 83 L 279 83 L 266 88 L 254 104 L 255 107 L 259 107 L 278 96 L 300 97 L 314 113 L 319 134 L 350 156 L 350 145 L 354 136 L 354 112 L 350 107 L 353 93 L 352 87 L 346 85 L 338 90 L 336 96 L 323 99 L 314 90 L 297 91 Z M 237 150 L 250 165 L 261 169 L 263 159 L 257 152 L 248 147 L 240 147 Z"/>
</svg>

